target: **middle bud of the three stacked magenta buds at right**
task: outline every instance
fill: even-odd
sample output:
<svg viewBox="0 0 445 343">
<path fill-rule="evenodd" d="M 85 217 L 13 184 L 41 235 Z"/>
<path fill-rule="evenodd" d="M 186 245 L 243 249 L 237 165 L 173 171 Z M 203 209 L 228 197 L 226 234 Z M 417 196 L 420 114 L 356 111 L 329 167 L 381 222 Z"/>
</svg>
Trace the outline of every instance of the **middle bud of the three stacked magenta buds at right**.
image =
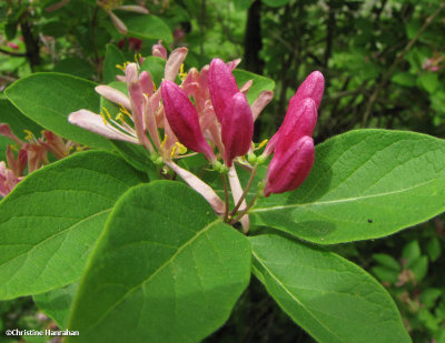
<svg viewBox="0 0 445 343">
<path fill-rule="evenodd" d="M 317 108 L 313 99 L 306 98 L 297 103 L 289 103 L 285 120 L 278 130 L 275 153 L 283 153 L 304 135 L 312 137 L 316 124 Z"/>
</svg>

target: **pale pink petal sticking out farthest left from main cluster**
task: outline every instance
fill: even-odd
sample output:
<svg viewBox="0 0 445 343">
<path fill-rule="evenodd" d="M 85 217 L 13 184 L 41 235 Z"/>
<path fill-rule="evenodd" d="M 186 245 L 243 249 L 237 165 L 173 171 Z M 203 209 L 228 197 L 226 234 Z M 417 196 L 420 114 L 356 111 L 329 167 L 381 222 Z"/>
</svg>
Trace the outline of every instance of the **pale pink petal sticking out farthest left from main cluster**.
<svg viewBox="0 0 445 343">
<path fill-rule="evenodd" d="M 88 110 L 79 110 L 77 112 L 72 112 L 68 117 L 68 121 L 71 124 L 78 125 L 82 129 L 98 133 L 98 134 L 103 135 L 105 138 L 108 138 L 111 140 L 119 140 L 119 141 L 126 141 L 126 142 L 139 144 L 139 141 L 136 138 L 132 138 L 132 137 L 125 134 L 116 129 L 112 129 L 110 127 L 110 124 L 106 124 L 103 122 L 102 117 L 100 117 L 99 114 L 92 113 L 91 111 L 88 111 Z"/>
</svg>

